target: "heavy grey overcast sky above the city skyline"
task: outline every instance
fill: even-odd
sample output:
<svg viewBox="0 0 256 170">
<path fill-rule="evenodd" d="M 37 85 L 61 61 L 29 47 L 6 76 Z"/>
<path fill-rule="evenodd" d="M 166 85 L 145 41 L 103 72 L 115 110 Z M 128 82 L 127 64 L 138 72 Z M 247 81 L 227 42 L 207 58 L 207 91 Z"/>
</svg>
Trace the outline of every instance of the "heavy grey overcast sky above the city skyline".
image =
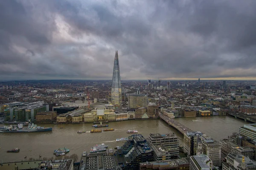
<svg viewBox="0 0 256 170">
<path fill-rule="evenodd" d="M 0 80 L 256 79 L 256 0 L 1 0 Z M 235 77 L 235 78 L 234 78 Z"/>
</svg>

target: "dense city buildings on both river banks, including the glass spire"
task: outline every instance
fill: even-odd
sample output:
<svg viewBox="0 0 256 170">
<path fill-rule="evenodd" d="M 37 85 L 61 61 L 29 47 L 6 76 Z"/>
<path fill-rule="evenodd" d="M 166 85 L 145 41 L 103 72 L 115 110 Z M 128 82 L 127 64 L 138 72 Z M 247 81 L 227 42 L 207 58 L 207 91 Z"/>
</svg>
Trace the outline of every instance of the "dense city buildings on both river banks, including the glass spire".
<svg viewBox="0 0 256 170">
<path fill-rule="evenodd" d="M 84 151 L 78 160 L 60 157 L 2 162 L 0 170 L 253 170 L 256 169 L 255 115 L 256 86 L 253 81 L 148 79 L 122 81 L 121 86 L 116 51 L 112 81 L 1 82 L 0 123 L 13 127 L 16 124 L 46 124 L 47 127 L 51 123 L 104 124 L 161 119 L 184 135 L 183 146 L 175 133 L 131 134 L 115 150 Z M 251 124 L 216 141 L 175 120 L 197 116 L 233 116 Z"/>
</svg>

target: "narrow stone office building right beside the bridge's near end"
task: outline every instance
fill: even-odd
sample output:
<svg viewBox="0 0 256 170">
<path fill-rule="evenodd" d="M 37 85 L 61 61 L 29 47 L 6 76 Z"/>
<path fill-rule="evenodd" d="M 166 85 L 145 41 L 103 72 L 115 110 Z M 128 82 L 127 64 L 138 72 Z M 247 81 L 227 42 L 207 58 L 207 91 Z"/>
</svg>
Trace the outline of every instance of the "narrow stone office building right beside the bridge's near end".
<svg viewBox="0 0 256 170">
<path fill-rule="evenodd" d="M 200 141 L 200 135 L 203 133 L 201 132 L 186 132 L 184 133 L 184 153 L 187 155 L 196 155 L 198 142 Z"/>
</svg>

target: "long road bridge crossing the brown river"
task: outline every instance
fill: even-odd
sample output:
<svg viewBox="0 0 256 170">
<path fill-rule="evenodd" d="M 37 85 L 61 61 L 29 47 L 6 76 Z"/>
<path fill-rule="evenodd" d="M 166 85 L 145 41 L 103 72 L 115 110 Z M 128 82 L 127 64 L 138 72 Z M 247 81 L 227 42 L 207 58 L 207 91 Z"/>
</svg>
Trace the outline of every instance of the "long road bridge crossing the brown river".
<svg viewBox="0 0 256 170">
<path fill-rule="evenodd" d="M 175 119 L 172 119 L 168 116 L 165 116 L 163 114 L 159 114 L 159 117 L 163 119 L 168 125 L 174 127 L 175 129 L 179 130 L 180 133 L 184 135 L 186 132 L 193 132 L 193 130 L 189 129 L 185 125 L 182 125 L 180 122 L 177 122 Z"/>
</svg>

